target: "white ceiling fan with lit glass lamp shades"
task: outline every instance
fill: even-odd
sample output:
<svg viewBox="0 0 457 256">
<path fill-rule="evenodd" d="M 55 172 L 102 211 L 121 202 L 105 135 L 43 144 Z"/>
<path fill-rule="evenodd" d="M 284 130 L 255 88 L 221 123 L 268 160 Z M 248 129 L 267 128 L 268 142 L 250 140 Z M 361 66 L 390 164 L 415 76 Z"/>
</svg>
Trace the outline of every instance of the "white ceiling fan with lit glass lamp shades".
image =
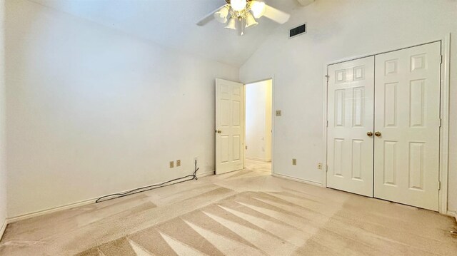
<svg viewBox="0 0 457 256">
<path fill-rule="evenodd" d="M 204 26 L 216 19 L 226 24 L 226 29 L 238 30 L 242 36 L 244 29 L 256 26 L 256 19 L 262 16 L 279 24 L 286 23 L 291 17 L 290 14 L 268 6 L 263 0 L 226 0 L 226 4 L 204 16 L 197 25 Z"/>
</svg>

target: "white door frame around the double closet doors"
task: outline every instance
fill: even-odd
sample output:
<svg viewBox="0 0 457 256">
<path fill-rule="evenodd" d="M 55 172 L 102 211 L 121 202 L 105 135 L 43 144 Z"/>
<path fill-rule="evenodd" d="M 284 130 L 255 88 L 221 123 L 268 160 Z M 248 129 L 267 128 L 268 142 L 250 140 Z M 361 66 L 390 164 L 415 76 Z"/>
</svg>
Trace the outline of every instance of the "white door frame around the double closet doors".
<svg viewBox="0 0 457 256">
<path fill-rule="evenodd" d="M 440 152 L 439 152 L 439 181 L 441 184 L 441 189 L 438 191 L 438 211 L 441 214 L 451 215 L 452 213 L 448 212 L 448 161 L 449 161 L 449 87 L 450 87 L 450 52 L 451 52 L 451 33 L 446 34 L 441 39 L 428 41 L 426 43 L 419 43 L 413 46 L 405 46 L 397 48 L 390 51 L 380 51 L 376 53 L 370 53 L 360 56 L 353 56 L 348 58 L 342 58 L 336 61 L 330 61 L 325 63 L 323 66 L 323 119 L 322 119 L 322 134 L 323 134 L 323 166 L 324 170 L 322 172 L 322 186 L 327 188 L 327 106 L 328 106 L 328 66 L 346 62 L 353 61 L 358 58 L 366 58 L 369 56 L 376 56 L 382 53 L 388 53 L 391 51 L 398 51 L 405 48 L 411 48 L 415 46 L 421 46 L 423 44 L 441 42 L 441 97 L 440 97 L 440 109 L 441 109 L 441 127 L 440 127 Z"/>
</svg>

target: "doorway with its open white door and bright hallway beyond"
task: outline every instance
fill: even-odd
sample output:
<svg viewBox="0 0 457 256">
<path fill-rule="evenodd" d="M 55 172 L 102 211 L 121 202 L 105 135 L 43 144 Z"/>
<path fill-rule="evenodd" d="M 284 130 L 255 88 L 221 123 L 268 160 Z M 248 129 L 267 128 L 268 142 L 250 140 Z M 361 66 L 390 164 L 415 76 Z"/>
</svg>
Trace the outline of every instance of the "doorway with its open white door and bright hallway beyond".
<svg viewBox="0 0 457 256">
<path fill-rule="evenodd" d="M 274 172 L 272 110 L 272 78 L 248 84 L 216 78 L 216 175 L 243 168 Z"/>
</svg>

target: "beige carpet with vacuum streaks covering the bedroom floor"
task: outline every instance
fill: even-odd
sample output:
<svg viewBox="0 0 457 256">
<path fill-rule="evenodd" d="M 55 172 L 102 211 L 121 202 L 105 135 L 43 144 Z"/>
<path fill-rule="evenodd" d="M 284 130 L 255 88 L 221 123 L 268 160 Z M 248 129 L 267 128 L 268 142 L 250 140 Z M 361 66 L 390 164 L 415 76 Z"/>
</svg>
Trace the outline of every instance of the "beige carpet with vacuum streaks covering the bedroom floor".
<svg viewBox="0 0 457 256">
<path fill-rule="evenodd" d="M 16 222 L 0 255 L 457 255 L 453 218 L 268 175 L 265 163 Z"/>
</svg>

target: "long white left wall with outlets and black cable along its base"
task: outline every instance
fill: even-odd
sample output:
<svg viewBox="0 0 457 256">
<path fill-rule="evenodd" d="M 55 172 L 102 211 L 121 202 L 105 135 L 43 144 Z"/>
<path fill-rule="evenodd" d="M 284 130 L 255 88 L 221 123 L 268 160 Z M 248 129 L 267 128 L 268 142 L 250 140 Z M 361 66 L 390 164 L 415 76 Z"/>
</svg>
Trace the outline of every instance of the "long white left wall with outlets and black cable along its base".
<svg viewBox="0 0 457 256">
<path fill-rule="evenodd" d="M 6 11 L 9 217 L 189 175 L 194 157 L 214 171 L 214 78 L 238 68 L 29 1 Z"/>
</svg>

